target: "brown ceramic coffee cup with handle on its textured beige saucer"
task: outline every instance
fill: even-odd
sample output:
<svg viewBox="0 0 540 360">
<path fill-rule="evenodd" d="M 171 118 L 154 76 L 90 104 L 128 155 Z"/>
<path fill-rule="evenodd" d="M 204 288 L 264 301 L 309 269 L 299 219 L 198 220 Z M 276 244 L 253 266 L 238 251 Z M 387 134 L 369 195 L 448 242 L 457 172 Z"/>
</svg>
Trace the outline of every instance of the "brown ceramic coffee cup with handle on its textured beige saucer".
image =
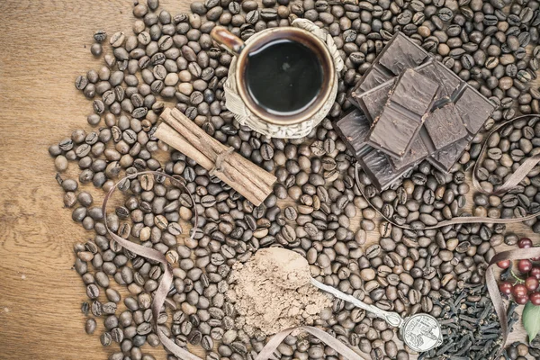
<svg viewBox="0 0 540 360">
<path fill-rule="evenodd" d="M 279 138 L 306 136 L 328 114 L 337 94 L 336 54 L 329 50 L 329 40 L 332 41 L 332 45 L 333 40 L 316 25 L 305 19 L 302 19 L 299 24 L 302 25 L 302 28 L 298 26 L 281 27 L 260 31 L 246 42 L 238 39 L 224 27 L 216 26 L 211 31 L 212 39 L 235 56 L 229 69 L 229 86 L 225 86 L 228 109 L 235 114 L 241 124 L 247 124 L 253 130 L 268 136 Z M 313 31 L 309 31 L 310 29 Z M 289 48 L 285 49 L 280 44 L 289 44 Z M 298 47 L 299 44 L 300 47 Z M 297 48 L 299 51 L 296 51 Z M 277 55 L 275 49 L 277 49 Z M 249 71 L 253 73 L 250 67 L 254 67 L 256 61 L 259 61 L 259 65 L 262 66 L 275 65 L 272 62 L 275 60 L 273 57 L 281 56 L 284 58 L 284 54 L 280 52 L 282 49 L 290 51 L 292 55 L 290 61 L 287 60 L 283 65 L 284 68 L 292 67 L 291 70 L 294 71 L 290 71 L 291 76 L 302 73 L 304 68 L 308 68 L 306 71 L 309 71 L 313 67 L 317 68 L 313 71 L 316 72 L 317 76 L 320 76 L 320 79 L 310 81 L 311 78 L 301 78 L 302 81 L 293 81 L 296 90 L 287 93 L 288 89 L 280 87 L 280 85 L 288 85 L 286 81 L 277 82 L 277 84 L 274 81 L 275 78 L 279 80 L 280 76 L 283 76 L 280 67 L 278 69 L 280 71 L 276 71 L 275 78 L 266 81 L 266 83 L 264 80 L 258 81 L 254 85 L 253 80 L 250 79 L 253 75 L 249 75 Z M 341 58 L 338 60 L 340 67 L 342 67 Z M 292 65 L 289 65 L 289 62 Z M 304 67 L 294 67 L 299 63 Z M 311 73 L 308 72 L 309 74 Z M 272 88 L 271 94 L 267 94 L 266 85 Z M 256 89 L 256 87 L 258 88 Z M 266 103 L 257 97 L 257 90 L 259 93 L 266 92 Z M 284 94 L 289 94 L 289 96 L 284 96 Z M 279 99 L 277 97 L 282 96 L 285 101 L 297 94 L 305 96 L 300 96 L 301 100 L 296 103 L 299 106 L 294 107 L 294 105 L 286 103 L 288 106 L 286 111 L 283 108 L 284 102 L 275 102 L 273 98 L 275 96 L 276 99 Z"/>
</svg>

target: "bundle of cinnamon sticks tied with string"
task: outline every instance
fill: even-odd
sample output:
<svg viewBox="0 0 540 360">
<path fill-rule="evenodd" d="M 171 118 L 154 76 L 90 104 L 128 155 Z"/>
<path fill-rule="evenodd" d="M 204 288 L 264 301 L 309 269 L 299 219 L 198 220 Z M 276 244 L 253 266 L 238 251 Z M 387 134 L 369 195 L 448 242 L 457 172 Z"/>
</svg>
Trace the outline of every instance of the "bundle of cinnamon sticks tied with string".
<svg viewBox="0 0 540 360">
<path fill-rule="evenodd" d="M 193 158 L 258 206 L 272 193 L 275 176 L 222 145 L 189 120 L 178 109 L 165 109 L 154 136 L 170 147 Z"/>
</svg>

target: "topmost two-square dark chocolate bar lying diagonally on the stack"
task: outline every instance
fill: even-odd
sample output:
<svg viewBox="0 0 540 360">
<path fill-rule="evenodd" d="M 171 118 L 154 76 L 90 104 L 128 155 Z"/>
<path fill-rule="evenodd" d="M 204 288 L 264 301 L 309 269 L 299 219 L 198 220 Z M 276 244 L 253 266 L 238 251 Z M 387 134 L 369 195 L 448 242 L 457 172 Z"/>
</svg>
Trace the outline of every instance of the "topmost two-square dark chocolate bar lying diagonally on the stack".
<svg viewBox="0 0 540 360">
<path fill-rule="evenodd" d="M 438 87 L 413 69 L 405 70 L 375 120 L 367 143 L 392 157 L 403 157 L 418 135 Z"/>
</svg>

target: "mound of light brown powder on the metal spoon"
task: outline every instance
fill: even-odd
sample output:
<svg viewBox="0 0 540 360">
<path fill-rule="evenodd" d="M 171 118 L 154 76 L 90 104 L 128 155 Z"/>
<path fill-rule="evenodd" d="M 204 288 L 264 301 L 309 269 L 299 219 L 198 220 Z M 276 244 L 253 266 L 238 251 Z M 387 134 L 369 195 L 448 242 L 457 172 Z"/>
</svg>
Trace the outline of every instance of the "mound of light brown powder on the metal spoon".
<svg viewBox="0 0 540 360">
<path fill-rule="evenodd" d="M 311 285 L 310 266 L 300 254 L 280 247 L 257 251 L 246 264 L 233 266 L 238 328 L 266 335 L 310 325 L 331 305 L 328 295 Z"/>
</svg>

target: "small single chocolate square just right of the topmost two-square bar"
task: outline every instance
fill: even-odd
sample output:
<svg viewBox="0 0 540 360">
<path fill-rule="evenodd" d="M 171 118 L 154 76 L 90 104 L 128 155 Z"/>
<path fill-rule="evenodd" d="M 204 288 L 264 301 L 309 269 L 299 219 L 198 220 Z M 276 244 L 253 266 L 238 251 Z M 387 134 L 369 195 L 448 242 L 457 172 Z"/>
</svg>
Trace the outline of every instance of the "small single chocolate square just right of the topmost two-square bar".
<svg viewBox="0 0 540 360">
<path fill-rule="evenodd" d="M 455 104 L 447 103 L 445 106 L 429 112 L 424 121 L 429 138 L 435 148 L 446 148 L 448 145 L 463 139 L 468 132 L 455 112 Z"/>
</svg>

